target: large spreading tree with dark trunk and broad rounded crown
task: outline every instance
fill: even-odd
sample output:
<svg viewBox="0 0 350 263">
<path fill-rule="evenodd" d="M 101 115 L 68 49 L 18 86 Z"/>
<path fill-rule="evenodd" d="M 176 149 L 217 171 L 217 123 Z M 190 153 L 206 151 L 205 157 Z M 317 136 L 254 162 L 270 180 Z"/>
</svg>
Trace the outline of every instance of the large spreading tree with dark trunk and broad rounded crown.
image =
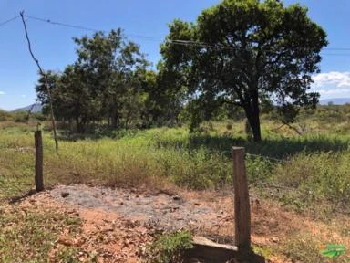
<svg viewBox="0 0 350 263">
<path fill-rule="evenodd" d="M 170 24 L 161 54 L 192 94 L 196 118 L 223 103 L 240 106 L 254 140 L 261 141 L 262 101 L 273 100 L 281 109 L 317 103 L 319 95 L 308 89 L 326 45 L 324 30 L 303 6 L 224 0 L 204 10 L 196 23 Z"/>
</svg>

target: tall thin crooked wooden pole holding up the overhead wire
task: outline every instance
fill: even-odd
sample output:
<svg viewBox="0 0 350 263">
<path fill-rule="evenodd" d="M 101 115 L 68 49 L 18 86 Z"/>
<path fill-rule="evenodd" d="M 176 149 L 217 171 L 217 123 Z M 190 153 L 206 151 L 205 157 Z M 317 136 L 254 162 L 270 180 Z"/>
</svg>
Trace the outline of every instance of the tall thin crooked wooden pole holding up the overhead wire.
<svg viewBox="0 0 350 263">
<path fill-rule="evenodd" d="M 23 26 L 25 27 L 26 41 L 28 43 L 29 53 L 32 56 L 33 60 L 36 62 L 36 66 L 37 66 L 37 68 L 39 68 L 40 75 L 43 76 L 44 79 L 45 79 L 45 87 L 46 87 L 47 97 L 48 97 L 49 104 L 50 104 L 52 128 L 54 130 L 55 145 L 56 145 L 56 150 L 58 150 L 58 141 L 57 141 L 57 132 L 56 132 L 56 121 L 55 121 L 55 115 L 54 115 L 54 107 L 52 105 L 51 92 L 50 92 L 50 88 L 48 87 L 47 77 L 46 77 L 46 74 L 45 74 L 43 68 L 40 67 L 39 60 L 37 60 L 36 57 L 33 54 L 32 46 L 31 46 L 30 39 L 29 39 L 29 36 L 28 36 L 28 30 L 26 28 L 25 11 L 21 11 L 19 14 L 21 15 Z"/>
</svg>

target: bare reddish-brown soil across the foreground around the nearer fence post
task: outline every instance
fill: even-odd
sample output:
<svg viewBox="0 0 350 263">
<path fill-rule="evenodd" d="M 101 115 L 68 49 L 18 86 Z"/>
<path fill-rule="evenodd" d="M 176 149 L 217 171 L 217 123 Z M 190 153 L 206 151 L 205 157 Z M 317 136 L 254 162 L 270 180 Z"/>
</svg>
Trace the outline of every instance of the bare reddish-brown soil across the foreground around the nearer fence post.
<svg viewBox="0 0 350 263">
<path fill-rule="evenodd" d="M 141 262 L 148 244 L 164 231 L 188 229 L 219 243 L 233 241 L 233 198 L 227 193 L 151 193 L 74 184 L 58 185 L 21 203 L 33 204 L 43 209 L 55 207 L 82 219 L 80 233 L 63 232 L 57 242 L 57 246 L 77 247 L 82 262 L 90 262 L 91 257 L 98 262 Z M 348 217 L 342 217 L 341 223 L 324 224 L 252 196 L 252 243 L 272 248 L 266 262 L 293 262 L 279 247 L 298 233 L 318 237 L 324 244 L 350 247 L 350 238 L 333 227 L 349 223 Z"/>
</svg>

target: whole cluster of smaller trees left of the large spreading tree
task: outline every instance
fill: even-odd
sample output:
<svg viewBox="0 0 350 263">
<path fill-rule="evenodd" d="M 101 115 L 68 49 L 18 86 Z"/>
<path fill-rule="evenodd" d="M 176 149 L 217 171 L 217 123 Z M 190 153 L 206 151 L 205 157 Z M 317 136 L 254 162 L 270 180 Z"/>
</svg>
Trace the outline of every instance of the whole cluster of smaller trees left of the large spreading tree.
<svg viewBox="0 0 350 263">
<path fill-rule="evenodd" d="M 185 97 L 171 89 L 172 80 L 161 64 L 157 72 L 148 69 L 150 63 L 139 46 L 120 29 L 74 41 L 76 61 L 63 72 L 46 72 L 57 121 L 75 123 L 77 132 L 87 132 L 91 124 L 128 129 L 179 121 Z M 47 112 L 44 77 L 38 80 L 36 93 Z"/>
</svg>

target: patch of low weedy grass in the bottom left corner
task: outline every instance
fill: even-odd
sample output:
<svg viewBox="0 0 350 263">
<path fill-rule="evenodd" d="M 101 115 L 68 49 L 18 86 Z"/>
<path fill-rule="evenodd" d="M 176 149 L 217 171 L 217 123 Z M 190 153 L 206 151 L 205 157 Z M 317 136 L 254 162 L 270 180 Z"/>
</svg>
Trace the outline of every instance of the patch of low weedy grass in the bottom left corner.
<svg viewBox="0 0 350 263">
<path fill-rule="evenodd" d="M 72 253 L 65 247 L 56 247 L 56 242 L 62 231 L 69 235 L 78 231 L 78 218 L 34 206 L 31 209 L 20 205 L 0 206 L 0 261 L 47 262 L 51 254 L 57 259 L 55 262 L 77 262 L 64 260 L 72 257 Z"/>
</svg>

